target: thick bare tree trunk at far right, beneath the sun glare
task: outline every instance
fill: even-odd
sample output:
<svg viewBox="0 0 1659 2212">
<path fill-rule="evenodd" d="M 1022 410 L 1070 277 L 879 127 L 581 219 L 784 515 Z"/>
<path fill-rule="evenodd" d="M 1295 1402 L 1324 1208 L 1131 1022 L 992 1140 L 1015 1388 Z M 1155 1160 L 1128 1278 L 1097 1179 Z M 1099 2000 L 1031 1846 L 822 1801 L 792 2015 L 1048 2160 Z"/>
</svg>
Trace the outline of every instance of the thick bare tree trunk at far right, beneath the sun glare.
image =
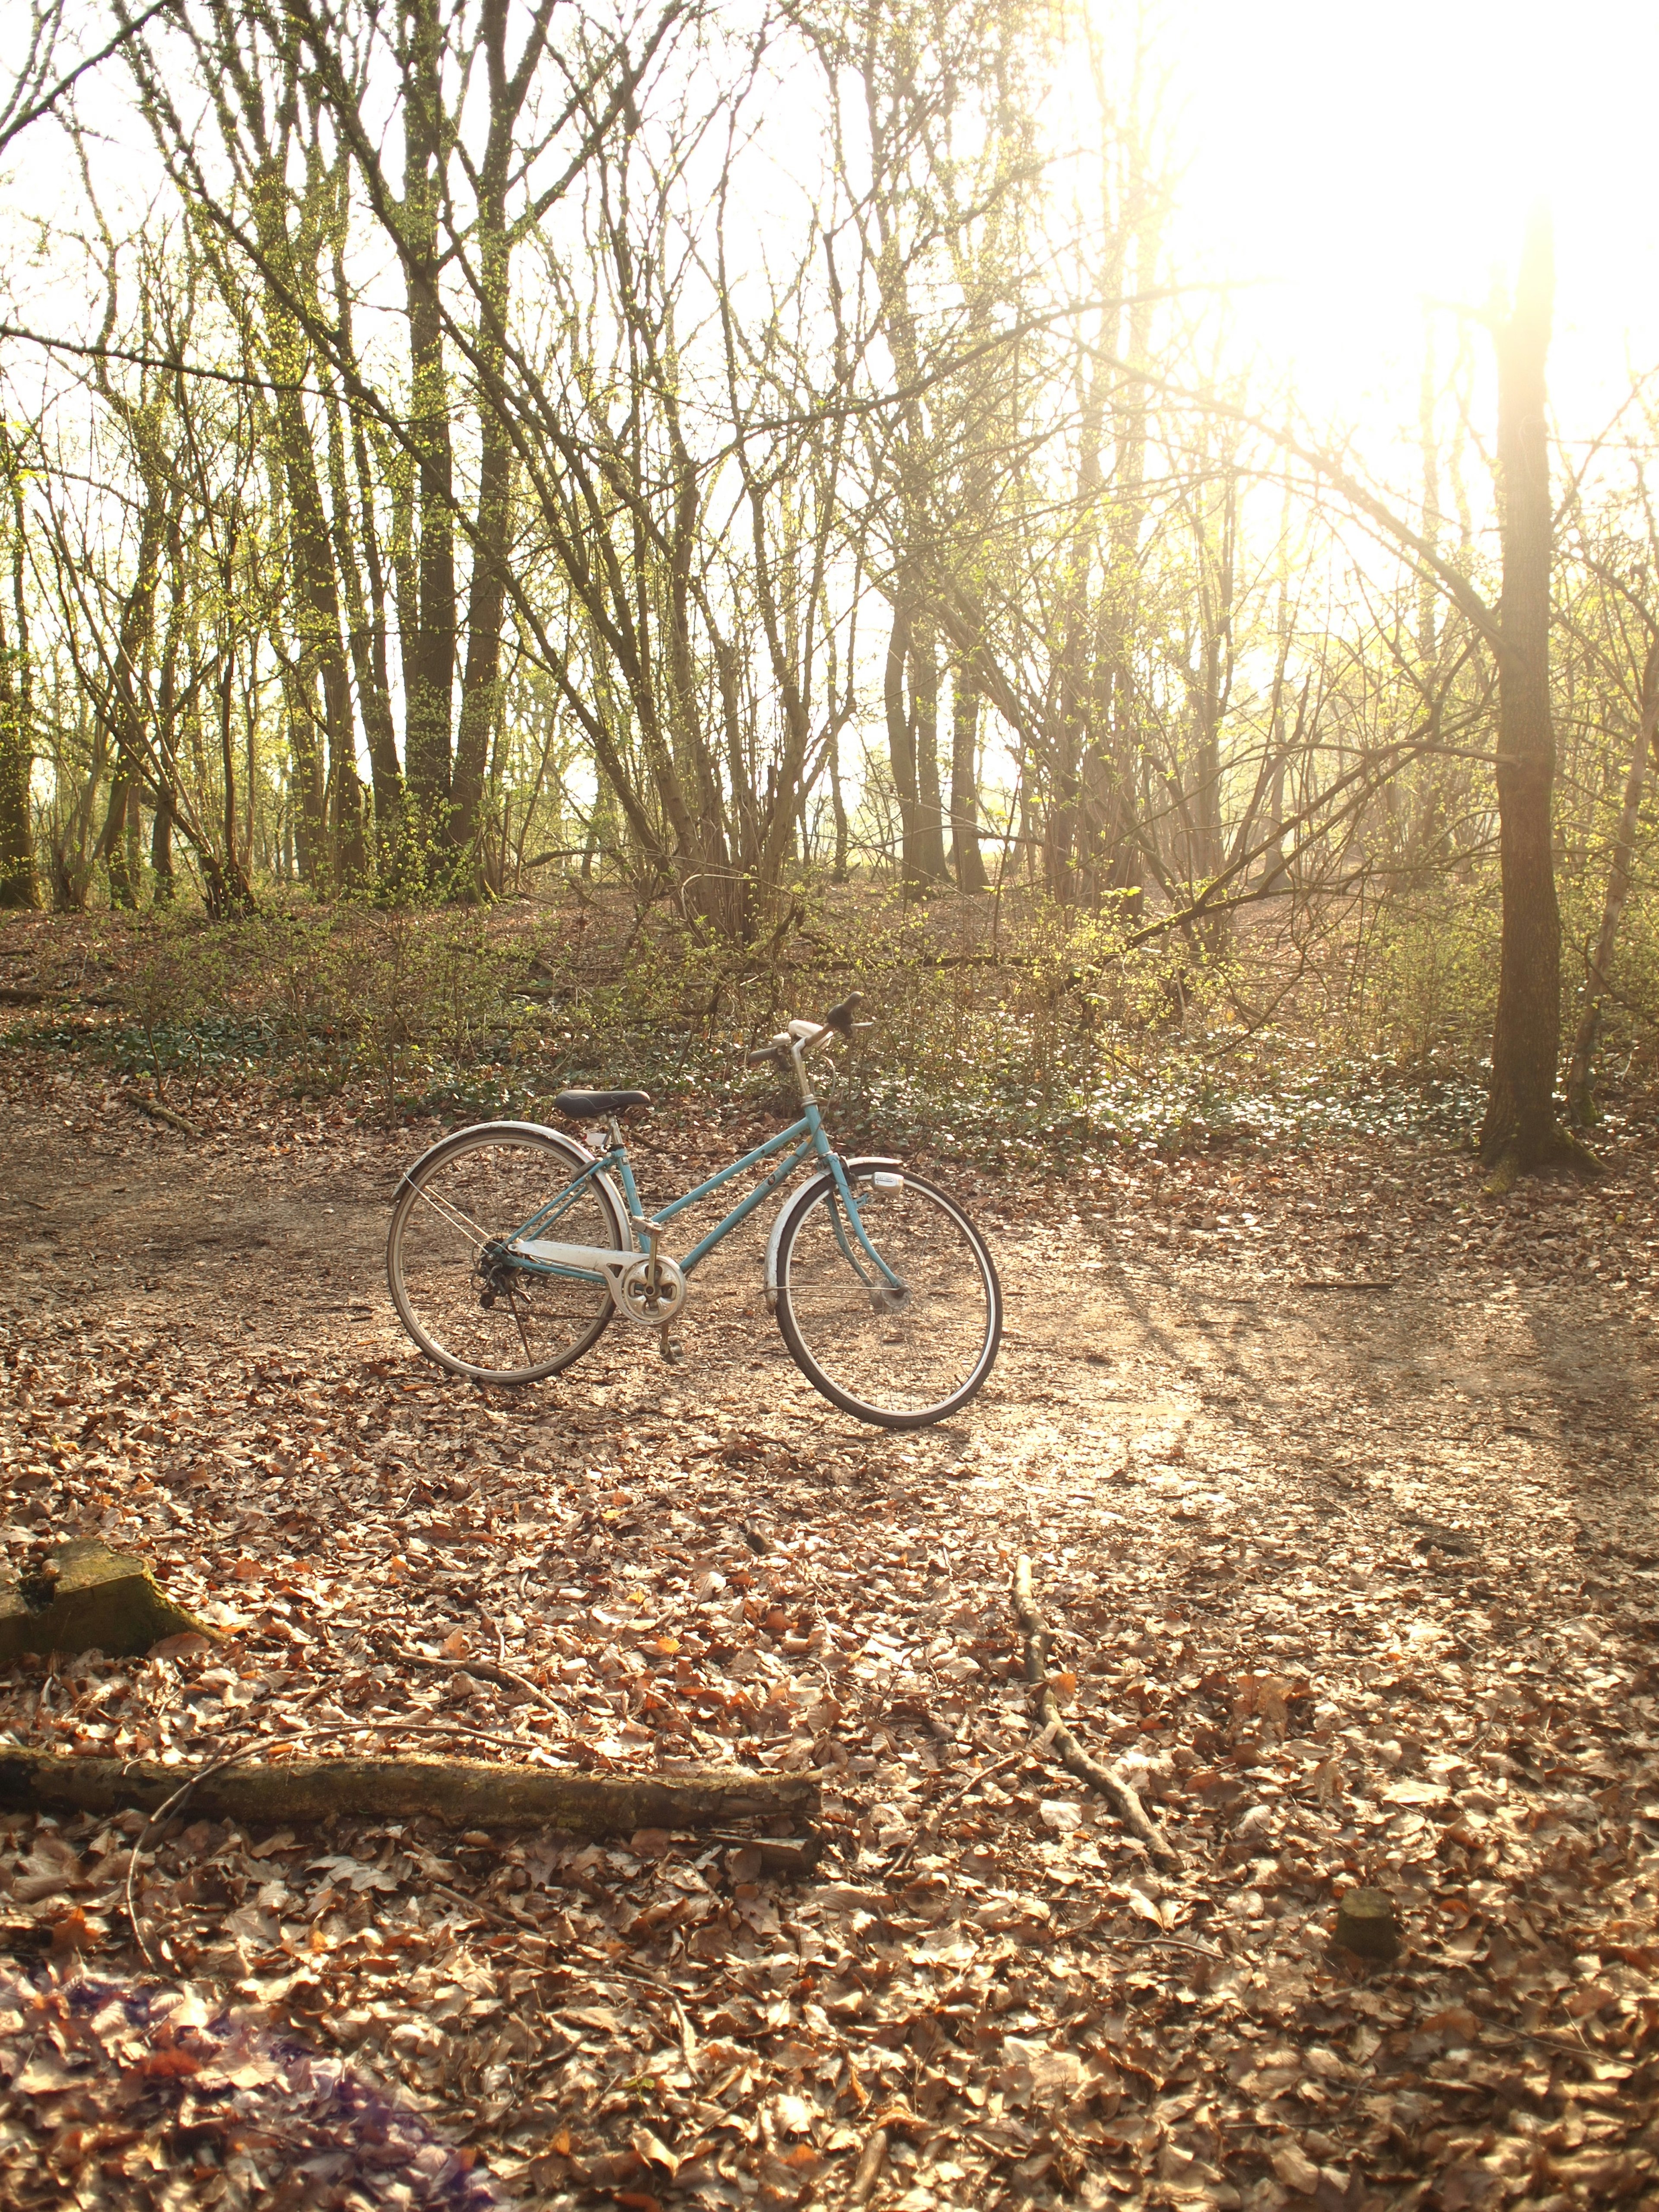
<svg viewBox="0 0 1659 2212">
<path fill-rule="evenodd" d="M 1498 606 L 1498 849 L 1502 949 L 1480 1157 L 1506 1186 L 1573 1152 L 1555 1119 L 1562 914 L 1551 805 L 1551 484 L 1544 361 L 1555 268 L 1548 219 L 1526 226 L 1515 305 L 1495 332 L 1504 586 Z"/>
</svg>

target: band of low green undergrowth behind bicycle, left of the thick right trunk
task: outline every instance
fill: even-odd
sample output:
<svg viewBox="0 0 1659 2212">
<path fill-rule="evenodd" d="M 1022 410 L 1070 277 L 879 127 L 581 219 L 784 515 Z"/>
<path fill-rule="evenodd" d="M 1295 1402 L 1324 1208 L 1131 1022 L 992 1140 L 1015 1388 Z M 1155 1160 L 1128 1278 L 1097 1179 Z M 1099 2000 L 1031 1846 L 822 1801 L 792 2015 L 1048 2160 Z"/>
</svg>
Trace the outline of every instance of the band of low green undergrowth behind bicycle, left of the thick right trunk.
<svg viewBox="0 0 1659 2212">
<path fill-rule="evenodd" d="M 113 1064 L 181 1102 L 257 1075 L 292 1097 L 367 1095 L 383 1119 L 546 1117 L 575 1084 L 787 1106 L 743 1053 L 792 1013 L 865 993 L 825 1055 L 845 1141 L 984 1168 L 1391 1135 L 1480 1119 L 1486 920 L 1396 916 L 1279 989 L 1274 947 L 1133 949 L 1106 918 L 1031 902 L 796 902 L 761 945 L 615 902 L 296 909 L 234 925 L 146 916 L 40 927 L 42 1006 L 9 1042 Z M 1440 936 L 1436 936 L 1440 931 Z M 1252 1015 L 1272 1002 L 1274 1020 Z"/>
</svg>

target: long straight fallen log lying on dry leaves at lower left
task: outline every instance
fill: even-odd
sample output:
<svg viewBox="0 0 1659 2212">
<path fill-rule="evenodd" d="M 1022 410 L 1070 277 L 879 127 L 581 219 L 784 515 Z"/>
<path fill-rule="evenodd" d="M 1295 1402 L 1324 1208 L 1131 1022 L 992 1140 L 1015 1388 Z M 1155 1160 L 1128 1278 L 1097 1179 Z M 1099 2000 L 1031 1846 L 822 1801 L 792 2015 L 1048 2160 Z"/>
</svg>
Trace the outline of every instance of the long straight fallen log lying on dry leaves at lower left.
<svg viewBox="0 0 1659 2212">
<path fill-rule="evenodd" d="M 641 1827 L 810 1820 L 812 1774 L 557 1774 L 482 1759 L 281 1759 L 265 1765 L 164 1767 L 155 1761 L 0 1752 L 0 1812 L 155 1812 L 184 1798 L 192 1818 L 250 1823 L 414 1820 L 451 1827 L 557 1827 L 630 1836 Z"/>
</svg>

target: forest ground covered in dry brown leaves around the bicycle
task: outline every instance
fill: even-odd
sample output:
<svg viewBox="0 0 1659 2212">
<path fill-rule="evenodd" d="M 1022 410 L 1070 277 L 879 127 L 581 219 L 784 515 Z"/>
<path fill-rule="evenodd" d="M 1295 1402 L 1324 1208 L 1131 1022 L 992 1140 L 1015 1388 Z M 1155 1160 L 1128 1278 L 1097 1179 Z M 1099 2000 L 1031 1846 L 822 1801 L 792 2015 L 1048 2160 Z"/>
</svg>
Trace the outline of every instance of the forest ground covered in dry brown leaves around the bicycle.
<svg viewBox="0 0 1659 2212">
<path fill-rule="evenodd" d="M 436 1124 L 135 1088 L 0 1060 L 0 1537 L 228 1637 L 24 1661 L 0 1725 L 807 1767 L 827 1851 L 11 1816 L 7 2203 L 1659 2203 L 1655 1128 L 1502 1201 L 1396 1141 L 953 1170 L 1009 1334 L 896 1438 L 761 1230 L 684 1367 L 451 1383 L 380 1261 Z M 741 1133 L 659 1115 L 648 1194 Z M 1177 1865 L 1033 1732 L 1018 1553 Z M 1398 1962 L 1329 1949 L 1352 1885 Z"/>
</svg>

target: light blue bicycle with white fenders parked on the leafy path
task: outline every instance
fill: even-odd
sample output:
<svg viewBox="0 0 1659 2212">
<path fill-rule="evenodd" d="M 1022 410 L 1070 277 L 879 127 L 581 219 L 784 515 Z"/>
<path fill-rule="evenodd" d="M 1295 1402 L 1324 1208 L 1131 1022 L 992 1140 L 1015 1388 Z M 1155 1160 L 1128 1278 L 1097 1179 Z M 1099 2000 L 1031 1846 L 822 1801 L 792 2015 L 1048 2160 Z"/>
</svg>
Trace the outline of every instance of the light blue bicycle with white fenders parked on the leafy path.
<svg viewBox="0 0 1659 2212">
<path fill-rule="evenodd" d="M 825 1135 L 807 1053 L 849 1040 L 858 993 L 823 1022 L 790 1022 L 750 1066 L 794 1071 L 801 1119 L 646 1214 L 619 1117 L 648 1091 L 564 1091 L 577 1124 L 606 1128 L 591 1152 L 533 1121 L 484 1121 L 436 1144 L 398 1183 L 387 1281 L 425 1354 L 473 1383 L 538 1383 L 591 1352 L 615 1314 L 675 1327 L 690 1276 L 781 1190 L 765 1252 L 765 1303 L 814 1389 L 883 1429 L 945 1420 L 980 1389 L 1002 1343 L 1002 1287 L 984 1239 L 933 1183 L 898 1159 L 843 1159 Z M 776 1161 L 708 1237 L 675 1259 L 664 1228 L 748 1168 Z"/>
</svg>

